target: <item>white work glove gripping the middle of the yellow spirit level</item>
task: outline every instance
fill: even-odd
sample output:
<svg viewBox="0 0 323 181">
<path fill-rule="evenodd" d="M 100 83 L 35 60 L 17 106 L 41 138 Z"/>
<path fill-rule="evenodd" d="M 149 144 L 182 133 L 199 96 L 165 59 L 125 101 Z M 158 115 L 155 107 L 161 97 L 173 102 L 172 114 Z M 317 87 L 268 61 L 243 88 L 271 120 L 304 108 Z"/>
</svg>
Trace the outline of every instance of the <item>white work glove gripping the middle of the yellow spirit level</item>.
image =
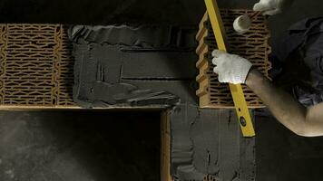
<svg viewBox="0 0 323 181">
<path fill-rule="evenodd" d="M 212 56 L 214 57 L 212 63 L 215 65 L 213 71 L 219 74 L 220 82 L 233 84 L 246 82 L 251 62 L 238 55 L 219 50 L 214 50 Z"/>
</svg>

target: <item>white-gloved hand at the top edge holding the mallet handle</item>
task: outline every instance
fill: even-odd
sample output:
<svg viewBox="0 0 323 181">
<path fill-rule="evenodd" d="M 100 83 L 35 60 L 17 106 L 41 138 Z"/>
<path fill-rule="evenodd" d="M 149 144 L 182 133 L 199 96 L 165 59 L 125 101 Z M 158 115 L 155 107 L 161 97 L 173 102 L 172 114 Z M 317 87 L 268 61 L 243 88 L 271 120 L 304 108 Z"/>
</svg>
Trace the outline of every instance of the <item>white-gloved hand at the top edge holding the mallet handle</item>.
<svg viewBox="0 0 323 181">
<path fill-rule="evenodd" d="M 293 0 L 259 0 L 259 3 L 253 6 L 253 10 L 262 11 L 263 15 L 279 14 L 292 2 Z"/>
</svg>

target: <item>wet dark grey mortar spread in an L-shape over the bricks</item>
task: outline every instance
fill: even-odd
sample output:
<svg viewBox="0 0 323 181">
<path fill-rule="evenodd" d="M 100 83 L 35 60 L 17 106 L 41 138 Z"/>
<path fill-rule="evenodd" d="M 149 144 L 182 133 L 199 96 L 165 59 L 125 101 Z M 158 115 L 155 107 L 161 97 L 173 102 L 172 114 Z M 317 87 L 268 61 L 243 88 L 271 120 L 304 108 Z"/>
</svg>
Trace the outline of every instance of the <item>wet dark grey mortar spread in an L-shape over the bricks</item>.
<svg viewBox="0 0 323 181">
<path fill-rule="evenodd" d="M 171 176 L 253 180 L 253 138 L 241 144 L 234 112 L 198 107 L 195 33 L 174 26 L 72 26 L 73 99 L 86 108 L 169 107 Z"/>
</svg>

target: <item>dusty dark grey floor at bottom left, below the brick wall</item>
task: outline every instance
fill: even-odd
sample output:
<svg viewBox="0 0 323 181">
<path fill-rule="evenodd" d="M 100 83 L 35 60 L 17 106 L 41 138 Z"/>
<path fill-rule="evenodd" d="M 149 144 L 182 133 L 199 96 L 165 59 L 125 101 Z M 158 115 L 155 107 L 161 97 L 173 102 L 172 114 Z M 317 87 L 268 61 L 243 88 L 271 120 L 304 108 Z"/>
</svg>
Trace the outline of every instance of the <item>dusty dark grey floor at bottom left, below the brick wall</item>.
<svg viewBox="0 0 323 181">
<path fill-rule="evenodd" d="M 0 111 L 1 181 L 155 181 L 159 112 Z"/>
</svg>

